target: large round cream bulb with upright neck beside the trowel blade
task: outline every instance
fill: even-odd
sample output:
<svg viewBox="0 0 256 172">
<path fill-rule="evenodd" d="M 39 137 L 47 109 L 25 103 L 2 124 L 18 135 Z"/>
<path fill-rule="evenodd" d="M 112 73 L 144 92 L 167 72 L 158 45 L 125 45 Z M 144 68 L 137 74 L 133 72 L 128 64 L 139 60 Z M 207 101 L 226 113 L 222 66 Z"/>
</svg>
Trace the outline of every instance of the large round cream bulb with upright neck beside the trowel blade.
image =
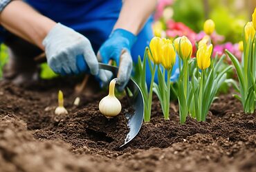
<svg viewBox="0 0 256 172">
<path fill-rule="evenodd" d="M 111 80 L 111 82 L 109 83 L 109 95 L 102 98 L 99 103 L 100 113 L 107 118 L 113 118 L 113 116 L 117 116 L 118 114 L 120 114 L 120 111 L 122 109 L 120 101 L 115 96 L 116 82 L 116 78 Z"/>
</svg>

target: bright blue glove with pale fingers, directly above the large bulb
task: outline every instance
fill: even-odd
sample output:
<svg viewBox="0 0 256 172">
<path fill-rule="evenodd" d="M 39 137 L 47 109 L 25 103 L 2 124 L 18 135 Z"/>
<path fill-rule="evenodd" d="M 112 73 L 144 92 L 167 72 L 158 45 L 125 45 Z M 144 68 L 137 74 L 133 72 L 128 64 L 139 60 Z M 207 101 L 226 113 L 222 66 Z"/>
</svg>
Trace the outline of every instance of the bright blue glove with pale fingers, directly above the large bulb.
<svg viewBox="0 0 256 172">
<path fill-rule="evenodd" d="M 131 47 L 136 41 L 136 36 L 123 29 L 114 30 L 107 41 L 105 41 L 98 52 L 99 60 L 102 63 L 109 63 L 112 59 L 119 66 L 118 89 L 121 91 L 127 85 L 131 76 L 132 58 Z M 99 78 L 103 83 L 109 82 L 111 74 L 100 69 Z"/>
</svg>

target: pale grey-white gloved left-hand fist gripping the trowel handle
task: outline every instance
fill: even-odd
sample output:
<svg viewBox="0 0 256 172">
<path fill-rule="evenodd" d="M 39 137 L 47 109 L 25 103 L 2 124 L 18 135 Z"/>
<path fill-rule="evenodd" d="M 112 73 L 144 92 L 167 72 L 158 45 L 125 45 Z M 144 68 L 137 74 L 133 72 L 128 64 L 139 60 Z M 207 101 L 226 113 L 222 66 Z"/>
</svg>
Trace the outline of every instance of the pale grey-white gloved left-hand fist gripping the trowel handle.
<svg viewBox="0 0 256 172">
<path fill-rule="evenodd" d="M 98 60 L 82 34 L 57 23 L 43 41 L 48 65 L 57 74 L 98 74 Z"/>
</svg>

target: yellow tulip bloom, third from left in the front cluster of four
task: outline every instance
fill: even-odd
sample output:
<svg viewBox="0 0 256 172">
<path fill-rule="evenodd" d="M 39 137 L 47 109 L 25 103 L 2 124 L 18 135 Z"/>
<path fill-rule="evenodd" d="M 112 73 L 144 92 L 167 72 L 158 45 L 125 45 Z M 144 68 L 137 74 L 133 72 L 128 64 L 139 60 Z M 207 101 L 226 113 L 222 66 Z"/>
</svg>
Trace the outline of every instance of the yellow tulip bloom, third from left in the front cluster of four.
<svg viewBox="0 0 256 172">
<path fill-rule="evenodd" d="M 179 39 L 179 38 L 178 38 Z M 180 48 L 179 48 L 180 45 Z M 186 36 L 182 36 L 179 39 L 179 43 L 174 43 L 175 47 L 178 47 L 177 52 L 183 61 L 189 59 L 192 55 L 192 43 Z"/>
</svg>

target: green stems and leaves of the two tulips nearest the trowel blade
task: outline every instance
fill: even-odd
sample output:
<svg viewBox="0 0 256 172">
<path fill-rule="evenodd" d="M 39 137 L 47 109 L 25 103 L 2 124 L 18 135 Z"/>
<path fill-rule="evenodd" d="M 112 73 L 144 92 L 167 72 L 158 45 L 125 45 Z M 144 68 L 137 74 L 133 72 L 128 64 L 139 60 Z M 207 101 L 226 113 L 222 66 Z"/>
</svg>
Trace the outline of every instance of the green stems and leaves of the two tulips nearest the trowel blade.
<svg viewBox="0 0 256 172">
<path fill-rule="evenodd" d="M 172 75 L 172 69 L 164 69 L 164 67 L 160 64 L 157 65 L 157 75 L 158 75 L 158 84 L 154 83 L 154 76 L 156 73 L 156 64 L 152 65 L 152 61 L 150 61 L 148 53 L 151 53 L 149 47 L 146 47 L 143 61 L 141 58 L 138 58 L 138 64 L 135 67 L 136 75 L 134 76 L 134 80 L 140 87 L 143 92 L 143 99 L 145 102 L 145 115 L 144 121 L 149 122 L 151 117 L 151 109 L 152 109 L 152 94 L 153 92 L 158 96 L 158 99 L 161 103 L 161 108 L 163 111 L 163 116 L 165 120 L 169 120 L 170 116 L 170 93 L 172 83 L 170 82 L 170 78 Z M 152 74 L 151 83 L 149 85 L 149 89 L 147 88 L 146 83 L 146 65 L 149 65 L 150 72 Z M 167 80 L 165 81 L 165 75 L 167 75 Z M 175 92 L 174 89 L 172 89 Z"/>
</svg>

